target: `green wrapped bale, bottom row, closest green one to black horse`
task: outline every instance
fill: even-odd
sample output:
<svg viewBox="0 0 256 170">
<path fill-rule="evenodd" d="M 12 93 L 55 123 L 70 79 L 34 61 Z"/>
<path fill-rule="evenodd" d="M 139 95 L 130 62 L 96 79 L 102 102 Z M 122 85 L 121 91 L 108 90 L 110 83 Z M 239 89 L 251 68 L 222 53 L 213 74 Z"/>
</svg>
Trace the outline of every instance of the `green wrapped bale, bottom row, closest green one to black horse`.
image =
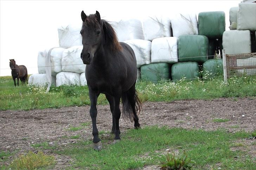
<svg viewBox="0 0 256 170">
<path fill-rule="evenodd" d="M 169 79 L 170 67 L 168 63 L 152 63 L 140 67 L 141 80 L 158 82 Z"/>
</svg>

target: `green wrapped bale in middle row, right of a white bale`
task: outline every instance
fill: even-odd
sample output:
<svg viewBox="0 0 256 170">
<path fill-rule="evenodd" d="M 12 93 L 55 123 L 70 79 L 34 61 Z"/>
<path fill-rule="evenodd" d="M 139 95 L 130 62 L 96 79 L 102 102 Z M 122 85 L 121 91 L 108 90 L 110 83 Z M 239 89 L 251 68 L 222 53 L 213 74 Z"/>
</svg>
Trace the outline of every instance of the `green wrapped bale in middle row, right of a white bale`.
<svg viewBox="0 0 256 170">
<path fill-rule="evenodd" d="M 204 35 L 180 35 L 178 40 L 179 62 L 204 63 L 208 59 L 208 45 L 208 38 Z"/>
</svg>

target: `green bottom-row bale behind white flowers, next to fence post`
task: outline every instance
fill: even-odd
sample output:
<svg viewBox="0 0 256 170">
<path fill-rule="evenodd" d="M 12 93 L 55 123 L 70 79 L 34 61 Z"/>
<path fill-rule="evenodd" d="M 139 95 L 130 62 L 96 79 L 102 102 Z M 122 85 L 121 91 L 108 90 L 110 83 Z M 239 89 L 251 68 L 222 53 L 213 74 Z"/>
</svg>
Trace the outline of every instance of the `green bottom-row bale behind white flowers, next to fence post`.
<svg viewBox="0 0 256 170">
<path fill-rule="evenodd" d="M 210 59 L 203 64 L 203 78 L 223 75 L 222 59 Z"/>
</svg>

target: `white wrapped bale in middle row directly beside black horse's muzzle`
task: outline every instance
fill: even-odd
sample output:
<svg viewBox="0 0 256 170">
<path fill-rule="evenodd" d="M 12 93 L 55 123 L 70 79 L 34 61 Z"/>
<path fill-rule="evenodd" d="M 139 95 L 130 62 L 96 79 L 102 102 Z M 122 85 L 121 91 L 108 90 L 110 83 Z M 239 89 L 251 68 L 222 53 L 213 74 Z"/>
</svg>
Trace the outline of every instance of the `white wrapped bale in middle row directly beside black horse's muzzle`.
<svg viewBox="0 0 256 170">
<path fill-rule="evenodd" d="M 76 72 L 81 74 L 85 71 L 85 64 L 81 59 L 83 46 L 73 46 L 63 51 L 62 55 L 62 71 Z"/>
</svg>

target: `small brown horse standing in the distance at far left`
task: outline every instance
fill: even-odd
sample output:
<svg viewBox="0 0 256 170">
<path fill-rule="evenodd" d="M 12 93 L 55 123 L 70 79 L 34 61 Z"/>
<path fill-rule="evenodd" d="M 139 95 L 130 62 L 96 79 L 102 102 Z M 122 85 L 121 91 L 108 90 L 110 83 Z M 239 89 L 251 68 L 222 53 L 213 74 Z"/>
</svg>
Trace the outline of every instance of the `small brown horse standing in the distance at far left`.
<svg viewBox="0 0 256 170">
<path fill-rule="evenodd" d="M 19 85 L 19 79 L 21 80 L 21 84 L 27 82 L 27 68 L 24 65 L 18 66 L 14 59 L 10 59 L 10 67 L 12 70 L 12 79 L 14 81 L 14 85 L 16 86 L 15 79 L 17 78 L 17 84 Z"/>
</svg>

